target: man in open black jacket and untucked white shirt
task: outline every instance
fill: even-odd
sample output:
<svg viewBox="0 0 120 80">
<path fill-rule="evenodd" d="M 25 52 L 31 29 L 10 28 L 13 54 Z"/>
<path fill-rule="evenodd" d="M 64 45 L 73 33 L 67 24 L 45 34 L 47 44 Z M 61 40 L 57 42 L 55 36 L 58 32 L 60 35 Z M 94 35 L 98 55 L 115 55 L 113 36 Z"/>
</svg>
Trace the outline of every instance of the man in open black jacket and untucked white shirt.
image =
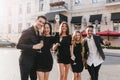
<svg viewBox="0 0 120 80">
<path fill-rule="evenodd" d="M 98 35 L 93 34 L 93 26 L 89 25 L 86 29 L 87 37 L 84 39 L 85 62 L 88 65 L 88 72 L 91 80 L 98 80 L 99 69 L 105 60 L 105 55 L 101 44 L 109 44 L 109 42 Z"/>
</svg>

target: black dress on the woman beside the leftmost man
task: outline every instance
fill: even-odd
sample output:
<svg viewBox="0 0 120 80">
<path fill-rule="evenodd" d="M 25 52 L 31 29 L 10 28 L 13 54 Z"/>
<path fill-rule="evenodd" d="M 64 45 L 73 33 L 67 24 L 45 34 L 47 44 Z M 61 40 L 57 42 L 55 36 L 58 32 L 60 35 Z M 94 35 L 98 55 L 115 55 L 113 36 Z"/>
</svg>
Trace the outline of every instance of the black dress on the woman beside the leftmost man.
<svg viewBox="0 0 120 80">
<path fill-rule="evenodd" d="M 37 54 L 36 68 L 37 71 L 49 72 L 53 67 L 53 58 L 50 49 L 52 48 L 55 40 L 54 37 L 50 36 L 43 37 L 43 41 L 44 46 L 41 49 L 42 52 Z"/>
</svg>

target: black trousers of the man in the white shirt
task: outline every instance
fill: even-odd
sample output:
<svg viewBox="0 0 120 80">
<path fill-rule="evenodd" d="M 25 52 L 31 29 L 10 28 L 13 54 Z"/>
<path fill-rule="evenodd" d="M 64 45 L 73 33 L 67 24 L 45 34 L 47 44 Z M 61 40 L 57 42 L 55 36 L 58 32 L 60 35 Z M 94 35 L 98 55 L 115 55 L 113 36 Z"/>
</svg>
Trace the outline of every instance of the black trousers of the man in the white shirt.
<svg viewBox="0 0 120 80">
<path fill-rule="evenodd" d="M 96 67 L 94 67 L 93 64 L 92 64 L 92 66 L 88 65 L 88 72 L 91 76 L 91 80 L 98 80 L 100 67 L 101 67 L 101 64 Z"/>
</svg>

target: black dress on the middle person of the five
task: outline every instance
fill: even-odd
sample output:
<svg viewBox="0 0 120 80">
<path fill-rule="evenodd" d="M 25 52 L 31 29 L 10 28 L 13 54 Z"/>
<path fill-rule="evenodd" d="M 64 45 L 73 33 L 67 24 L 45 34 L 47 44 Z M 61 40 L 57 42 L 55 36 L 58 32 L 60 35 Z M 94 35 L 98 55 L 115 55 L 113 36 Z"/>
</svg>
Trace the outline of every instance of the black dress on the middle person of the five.
<svg viewBox="0 0 120 80">
<path fill-rule="evenodd" d="M 58 47 L 57 62 L 63 64 L 70 64 L 71 36 L 63 36 L 62 40 L 59 43 L 60 46 Z"/>
</svg>

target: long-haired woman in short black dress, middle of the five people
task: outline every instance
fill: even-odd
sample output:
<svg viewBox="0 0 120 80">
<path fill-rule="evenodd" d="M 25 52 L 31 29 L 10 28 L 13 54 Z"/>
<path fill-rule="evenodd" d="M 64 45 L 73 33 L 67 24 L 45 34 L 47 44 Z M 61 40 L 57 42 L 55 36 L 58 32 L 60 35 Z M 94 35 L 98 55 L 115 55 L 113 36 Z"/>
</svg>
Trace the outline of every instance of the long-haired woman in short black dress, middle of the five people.
<svg viewBox="0 0 120 80">
<path fill-rule="evenodd" d="M 59 64 L 60 79 L 67 80 L 70 67 L 70 45 L 71 36 L 69 35 L 69 27 L 66 22 L 62 22 L 59 30 L 59 39 L 55 46 L 58 48 L 57 62 Z"/>
</svg>

